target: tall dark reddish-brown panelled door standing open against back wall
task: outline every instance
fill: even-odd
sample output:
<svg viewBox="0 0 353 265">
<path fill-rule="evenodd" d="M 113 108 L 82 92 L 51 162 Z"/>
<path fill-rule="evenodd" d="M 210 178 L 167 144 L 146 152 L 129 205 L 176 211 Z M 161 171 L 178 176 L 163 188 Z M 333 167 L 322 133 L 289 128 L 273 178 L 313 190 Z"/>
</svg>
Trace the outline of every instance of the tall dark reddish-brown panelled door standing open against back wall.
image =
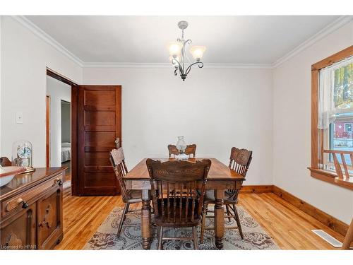
<svg viewBox="0 0 353 265">
<path fill-rule="evenodd" d="M 109 151 L 121 142 L 121 86 L 78 88 L 78 192 L 119 194 Z"/>
</svg>

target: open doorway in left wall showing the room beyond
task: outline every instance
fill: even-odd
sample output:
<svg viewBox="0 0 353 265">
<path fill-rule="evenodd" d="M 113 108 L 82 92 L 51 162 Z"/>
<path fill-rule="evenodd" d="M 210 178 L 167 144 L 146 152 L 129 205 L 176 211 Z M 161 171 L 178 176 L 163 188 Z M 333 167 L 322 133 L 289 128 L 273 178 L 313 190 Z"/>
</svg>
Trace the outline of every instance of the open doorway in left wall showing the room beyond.
<svg viewBox="0 0 353 265">
<path fill-rule="evenodd" d="M 47 167 L 67 167 L 64 189 L 77 187 L 77 94 L 78 85 L 47 69 Z"/>
</svg>

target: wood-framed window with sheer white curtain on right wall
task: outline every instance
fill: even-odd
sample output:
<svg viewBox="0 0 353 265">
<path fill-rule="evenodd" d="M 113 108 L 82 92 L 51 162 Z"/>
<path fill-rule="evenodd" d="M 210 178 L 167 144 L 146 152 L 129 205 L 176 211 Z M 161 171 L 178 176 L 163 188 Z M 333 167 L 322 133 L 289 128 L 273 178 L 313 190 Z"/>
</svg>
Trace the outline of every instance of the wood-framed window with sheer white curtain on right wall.
<svg viewBox="0 0 353 265">
<path fill-rule="evenodd" d="M 353 189 L 352 155 L 353 46 L 350 46 L 311 66 L 311 176 Z M 337 169 L 340 164 L 344 177 Z"/>
</svg>

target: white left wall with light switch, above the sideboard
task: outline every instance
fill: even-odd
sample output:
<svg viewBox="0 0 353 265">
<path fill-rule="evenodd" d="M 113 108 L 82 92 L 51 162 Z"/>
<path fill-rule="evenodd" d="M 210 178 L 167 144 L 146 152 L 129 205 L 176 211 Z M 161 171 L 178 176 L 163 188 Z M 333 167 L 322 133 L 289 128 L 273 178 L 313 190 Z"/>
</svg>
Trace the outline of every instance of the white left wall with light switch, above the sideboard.
<svg viewBox="0 0 353 265">
<path fill-rule="evenodd" d="M 33 165 L 45 166 L 46 67 L 81 83 L 82 68 L 51 45 L 3 16 L 1 21 L 1 156 L 11 158 L 14 141 L 33 145 Z M 16 124 L 16 112 L 23 124 Z"/>
</svg>

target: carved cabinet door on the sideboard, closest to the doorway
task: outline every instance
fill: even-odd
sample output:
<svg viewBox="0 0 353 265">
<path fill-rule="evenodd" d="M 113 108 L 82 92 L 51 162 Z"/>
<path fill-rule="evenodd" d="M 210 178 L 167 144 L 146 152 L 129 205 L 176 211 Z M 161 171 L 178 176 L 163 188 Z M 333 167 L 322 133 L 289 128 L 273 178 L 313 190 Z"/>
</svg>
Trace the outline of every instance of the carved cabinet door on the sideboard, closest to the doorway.
<svg viewBox="0 0 353 265">
<path fill-rule="evenodd" d="M 63 238 L 62 182 L 47 190 L 37 201 L 37 243 L 39 249 L 52 249 Z"/>
</svg>

